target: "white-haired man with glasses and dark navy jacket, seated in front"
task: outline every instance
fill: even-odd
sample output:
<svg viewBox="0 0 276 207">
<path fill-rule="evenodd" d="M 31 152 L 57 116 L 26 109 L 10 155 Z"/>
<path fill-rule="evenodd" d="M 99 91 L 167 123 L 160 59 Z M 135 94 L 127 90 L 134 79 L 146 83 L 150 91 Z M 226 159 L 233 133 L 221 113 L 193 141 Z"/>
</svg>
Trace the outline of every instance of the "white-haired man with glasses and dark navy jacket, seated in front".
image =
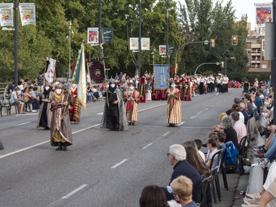
<svg viewBox="0 0 276 207">
<path fill-rule="evenodd" d="M 173 166 L 170 183 L 177 177 L 184 175 L 193 181 L 193 200 L 195 200 L 196 197 L 200 197 L 196 189 L 201 183 L 201 175 L 194 166 L 186 161 L 186 150 L 184 146 L 181 146 L 180 144 L 170 146 L 167 156 L 168 161 L 170 161 L 170 164 Z M 166 192 L 166 195 L 168 200 L 174 199 L 173 195 L 168 193 L 168 191 Z"/>
</svg>

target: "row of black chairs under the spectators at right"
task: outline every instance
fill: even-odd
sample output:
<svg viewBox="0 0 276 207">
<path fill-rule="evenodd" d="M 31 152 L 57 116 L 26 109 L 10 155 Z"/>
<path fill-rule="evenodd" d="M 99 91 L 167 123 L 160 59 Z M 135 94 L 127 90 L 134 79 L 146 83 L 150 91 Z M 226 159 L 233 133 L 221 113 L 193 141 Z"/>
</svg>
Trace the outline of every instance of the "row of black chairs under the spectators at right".
<svg viewBox="0 0 276 207">
<path fill-rule="evenodd" d="M 248 146 L 250 140 L 253 139 L 253 133 L 250 133 L 242 138 L 239 143 L 239 155 L 237 156 L 238 162 L 238 172 L 239 175 L 244 174 L 244 159 L 247 158 Z M 226 156 L 226 149 L 230 147 L 230 141 L 226 143 L 224 148 L 219 149 L 213 158 L 211 159 L 210 166 L 213 166 L 215 159 L 217 160 L 216 166 L 213 168 L 210 177 L 206 177 L 201 181 L 199 186 L 202 192 L 202 199 L 199 206 L 212 206 L 212 196 L 210 197 L 210 193 L 213 195 L 213 200 L 215 204 L 217 204 L 217 199 L 221 201 L 221 190 L 219 186 L 219 172 L 222 174 L 222 178 L 224 180 L 224 188 L 228 189 L 228 182 L 226 177 L 226 168 L 224 166 L 224 157 Z"/>
</svg>

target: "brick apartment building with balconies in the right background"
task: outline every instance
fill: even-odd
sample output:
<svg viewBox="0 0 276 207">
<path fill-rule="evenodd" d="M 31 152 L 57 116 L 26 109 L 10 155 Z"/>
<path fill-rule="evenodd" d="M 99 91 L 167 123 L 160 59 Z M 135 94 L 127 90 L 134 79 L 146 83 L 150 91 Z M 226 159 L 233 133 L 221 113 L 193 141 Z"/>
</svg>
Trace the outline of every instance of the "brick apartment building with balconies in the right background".
<svg viewBox="0 0 276 207">
<path fill-rule="evenodd" d="M 247 56 L 248 72 L 270 72 L 271 61 L 264 60 L 262 39 L 264 36 L 256 37 L 256 31 L 251 30 L 251 23 L 247 23 Z"/>
</svg>

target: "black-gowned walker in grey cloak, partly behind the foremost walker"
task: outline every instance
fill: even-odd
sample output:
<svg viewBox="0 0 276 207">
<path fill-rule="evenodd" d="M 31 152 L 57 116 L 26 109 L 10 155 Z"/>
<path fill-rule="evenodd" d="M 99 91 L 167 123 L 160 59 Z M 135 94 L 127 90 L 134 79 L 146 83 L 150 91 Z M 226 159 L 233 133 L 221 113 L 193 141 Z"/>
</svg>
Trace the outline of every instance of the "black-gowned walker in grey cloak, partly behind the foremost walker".
<svg viewBox="0 0 276 207">
<path fill-rule="evenodd" d="M 51 103 L 54 97 L 50 83 L 45 83 L 43 92 L 39 95 L 40 109 L 37 128 L 43 127 L 44 130 L 50 130 L 52 111 Z"/>
</svg>

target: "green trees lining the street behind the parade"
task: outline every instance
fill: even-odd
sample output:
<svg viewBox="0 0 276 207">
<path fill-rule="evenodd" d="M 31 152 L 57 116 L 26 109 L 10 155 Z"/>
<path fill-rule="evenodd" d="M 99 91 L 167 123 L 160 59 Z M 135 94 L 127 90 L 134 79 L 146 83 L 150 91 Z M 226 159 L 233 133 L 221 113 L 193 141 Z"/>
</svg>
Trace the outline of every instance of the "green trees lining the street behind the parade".
<svg viewBox="0 0 276 207">
<path fill-rule="evenodd" d="M 10 2 L 10 0 L 2 0 Z M 46 57 L 57 59 L 57 76 L 68 71 L 69 21 L 71 31 L 71 62 L 77 59 L 84 41 L 86 58 L 98 58 L 99 47 L 86 42 L 87 28 L 99 26 L 99 0 L 21 0 L 36 5 L 37 26 L 21 26 L 19 20 L 19 79 L 34 79 L 45 67 Z M 108 73 L 124 71 L 128 75 L 138 72 L 137 52 L 129 50 L 129 38 L 139 36 L 138 0 L 102 0 L 102 28 L 113 28 L 113 44 L 104 45 L 106 66 L 114 69 Z M 150 51 L 142 51 L 141 73 L 152 72 L 152 52 L 155 63 L 164 64 L 166 58 L 159 55 L 159 45 L 166 45 L 166 17 L 168 8 L 168 42 L 175 51 L 191 41 L 215 39 L 215 48 L 204 44 L 188 44 L 177 57 L 179 73 L 193 73 L 204 62 L 228 60 L 230 73 L 247 71 L 246 19 L 235 22 L 232 2 L 222 6 L 218 1 L 186 0 L 177 9 L 175 0 L 142 1 L 141 36 L 150 37 Z M 238 35 L 238 46 L 231 46 L 231 36 Z M 0 30 L 0 81 L 12 81 L 14 71 L 14 35 L 12 31 Z M 170 55 L 170 66 L 175 65 L 175 54 Z M 206 65 L 201 72 L 219 72 L 221 68 Z"/>
</svg>

